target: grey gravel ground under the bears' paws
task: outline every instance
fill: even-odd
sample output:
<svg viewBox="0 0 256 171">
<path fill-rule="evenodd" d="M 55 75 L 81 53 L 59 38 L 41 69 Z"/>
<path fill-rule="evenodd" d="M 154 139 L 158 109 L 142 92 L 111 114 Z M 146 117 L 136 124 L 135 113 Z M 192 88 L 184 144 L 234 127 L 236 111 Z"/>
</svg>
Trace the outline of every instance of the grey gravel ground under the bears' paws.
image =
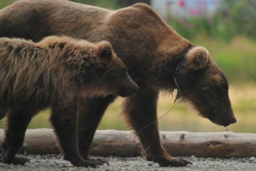
<svg viewBox="0 0 256 171">
<path fill-rule="evenodd" d="M 22 155 L 20 155 L 22 156 Z M 27 155 L 22 156 L 30 159 L 26 165 L 13 165 L 0 163 L 0 170 L 19 170 L 19 171 L 45 171 L 45 170 L 256 170 L 256 158 L 197 158 L 195 156 L 183 157 L 193 162 L 193 165 L 187 167 L 159 167 L 157 163 L 145 161 L 142 157 L 105 157 L 110 162 L 110 166 L 103 165 L 97 169 L 74 167 L 68 161 L 62 160 L 60 155 Z M 94 157 L 92 157 L 94 158 Z"/>
</svg>

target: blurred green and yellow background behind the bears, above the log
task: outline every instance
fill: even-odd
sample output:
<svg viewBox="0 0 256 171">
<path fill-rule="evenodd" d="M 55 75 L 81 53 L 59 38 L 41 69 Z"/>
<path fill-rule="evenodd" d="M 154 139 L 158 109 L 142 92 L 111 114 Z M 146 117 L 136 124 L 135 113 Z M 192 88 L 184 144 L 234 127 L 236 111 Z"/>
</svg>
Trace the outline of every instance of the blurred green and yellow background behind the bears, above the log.
<svg viewBox="0 0 256 171">
<path fill-rule="evenodd" d="M 0 9 L 15 2 L 1 0 Z M 232 132 L 256 133 L 256 0 L 76 0 L 74 2 L 119 9 L 137 2 L 151 5 L 179 34 L 207 48 L 230 83 L 230 99 L 238 119 Z M 1 26 L 4 27 L 4 26 Z M 99 129 L 129 130 L 121 115 L 121 98 L 106 111 Z M 173 106 L 161 94 L 158 117 Z M 51 127 L 50 110 L 33 118 L 30 129 Z M 0 121 L 3 128 L 4 120 Z M 197 116 L 188 104 L 179 104 L 159 120 L 161 131 L 219 132 L 226 129 Z"/>
</svg>

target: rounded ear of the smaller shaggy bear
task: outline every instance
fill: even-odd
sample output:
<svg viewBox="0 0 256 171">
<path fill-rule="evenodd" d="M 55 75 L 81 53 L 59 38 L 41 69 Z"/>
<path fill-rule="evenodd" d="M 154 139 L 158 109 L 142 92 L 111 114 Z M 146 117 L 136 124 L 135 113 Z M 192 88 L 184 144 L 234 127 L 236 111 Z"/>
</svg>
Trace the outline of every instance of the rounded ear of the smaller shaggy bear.
<svg viewBox="0 0 256 171">
<path fill-rule="evenodd" d="M 104 62 L 109 62 L 113 58 L 112 46 L 108 41 L 101 41 L 99 46 L 99 58 Z"/>
</svg>

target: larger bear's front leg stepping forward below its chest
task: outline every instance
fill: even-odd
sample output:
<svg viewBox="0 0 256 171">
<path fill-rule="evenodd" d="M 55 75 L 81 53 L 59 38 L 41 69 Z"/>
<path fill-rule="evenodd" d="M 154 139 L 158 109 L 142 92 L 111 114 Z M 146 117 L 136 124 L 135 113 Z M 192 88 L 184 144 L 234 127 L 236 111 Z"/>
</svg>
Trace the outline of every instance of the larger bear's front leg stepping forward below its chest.
<svg viewBox="0 0 256 171">
<path fill-rule="evenodd" d="M 160 166 L 186 166 L 189 161 L 174 159 L 160 143 L 157 120 L 158 91 L 139 86 L 140 90 L 124 102 L 124 114 L 137 133 L 146 159 Z M 156 122 L 154 122 L 156 121 Z M 153 124 L 150 124 L 154 122 Z M 145 125 L 150 124 L 146 127 Z M 142 129 L 144 127 L 144 129 Z"/>
</svg>

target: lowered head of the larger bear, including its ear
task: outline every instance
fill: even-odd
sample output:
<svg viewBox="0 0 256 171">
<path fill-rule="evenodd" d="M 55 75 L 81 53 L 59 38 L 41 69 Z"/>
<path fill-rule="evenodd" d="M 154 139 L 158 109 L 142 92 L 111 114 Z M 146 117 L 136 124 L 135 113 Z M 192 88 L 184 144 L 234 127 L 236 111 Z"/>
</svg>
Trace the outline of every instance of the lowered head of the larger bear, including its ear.
<svg viewBox="0 0 256 171">
<path fill-rule="evenodd" d="M 195 106 L 200 115 L 216 124 L 227 126 L 235 123 L 228 81 L 208 51 L 194 47 L 188 51 L 185 60 L 187 82 L 182 88 L 184 98 Z"/>
</svg>

